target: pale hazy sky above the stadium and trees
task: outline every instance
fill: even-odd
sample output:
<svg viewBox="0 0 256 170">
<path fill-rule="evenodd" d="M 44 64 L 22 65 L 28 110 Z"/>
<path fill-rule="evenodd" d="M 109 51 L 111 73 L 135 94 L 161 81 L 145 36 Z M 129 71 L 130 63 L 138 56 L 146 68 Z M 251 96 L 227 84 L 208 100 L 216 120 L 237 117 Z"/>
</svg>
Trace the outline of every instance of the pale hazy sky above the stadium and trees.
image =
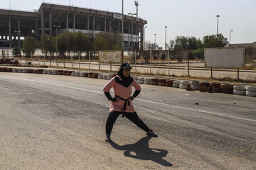
<svg viewBox="0 0 256 170">
<path fill-rule="evenodd" d="M 0 8 L 17 10 L 38 9 L 43 0 L 0 0 Z M 218 33 L 231 43 L 256 41 L 256 0 L 138 0 L 139 17 L 144 18 L 146 40 L 164 46 L 165 28 L 167 41 L 177 35 L 195 36 L 202 40 L 205 35 L 216 34 L 217 18 L 220 15 Z M 122 12 L 122 0 L 45 0 L 47 3 L 95 8 L 104 11 Z M 124 13 L 136 13 L 133 0 L 124 0 Z"/>
</svg>

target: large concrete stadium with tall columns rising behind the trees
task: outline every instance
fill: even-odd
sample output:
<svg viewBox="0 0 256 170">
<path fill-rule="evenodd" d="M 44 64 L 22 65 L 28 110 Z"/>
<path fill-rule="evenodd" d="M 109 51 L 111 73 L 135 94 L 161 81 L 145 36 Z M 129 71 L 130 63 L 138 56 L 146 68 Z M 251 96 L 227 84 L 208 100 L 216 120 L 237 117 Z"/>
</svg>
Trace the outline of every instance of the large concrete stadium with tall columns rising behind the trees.
<svg viewBox="0 0 256 170">
<path fill-rule="evenodd" d="M 41 4 L 33 12 L 0 9 L 0 47 L 21 45 L 20 38 L 28 35 L 40 39 L 42 33 L 55 36 L 65 31 L 81 30 L 90 38 L 96 33 L 122 33 L 124 30 L 124 50 L 130 50 L 134 42 L 134 50 L 143 49 L 144 25 L 146 21 L 132 16 L 123 16 L 122 20 L 114 18 L 114 13 L 90 8 Z M 133 26 L 133 28 L 132 28 Z"/>
</svg>

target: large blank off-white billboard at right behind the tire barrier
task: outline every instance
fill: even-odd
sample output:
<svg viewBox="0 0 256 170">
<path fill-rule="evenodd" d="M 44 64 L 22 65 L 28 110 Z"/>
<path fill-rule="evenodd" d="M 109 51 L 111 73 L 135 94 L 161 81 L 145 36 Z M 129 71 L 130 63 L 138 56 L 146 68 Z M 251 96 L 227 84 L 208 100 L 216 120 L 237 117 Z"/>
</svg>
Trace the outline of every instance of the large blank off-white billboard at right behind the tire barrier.
<svg viewBox="0 0 256 170">
<path fill-rule="evenodd" d="M 206 48 L 204 58 L 206 68 L 244 68 L 245 47 Z"/>
</svg>

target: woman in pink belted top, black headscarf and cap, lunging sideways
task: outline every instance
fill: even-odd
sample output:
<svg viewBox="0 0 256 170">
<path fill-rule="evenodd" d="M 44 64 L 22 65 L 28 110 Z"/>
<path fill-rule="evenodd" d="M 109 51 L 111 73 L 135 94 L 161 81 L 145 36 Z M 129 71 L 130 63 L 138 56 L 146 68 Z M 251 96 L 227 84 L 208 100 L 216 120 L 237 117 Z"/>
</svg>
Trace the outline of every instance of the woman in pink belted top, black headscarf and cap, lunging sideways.
<svg viewBox="0 0 256 170">
<path fill-rule="evenodd" d="M 137 81 L 130 76 L 131 69 L 132 67 L 130 67 L 128 63 L 121 64 L 118 75 L 113 77 L 103 88 L 105 95 L 111 101 L 110 113 L 106 123 L 107 142 L 112 142 L 110 134 L 112 132 L 113 125 L 120 114 L 122 114 L 122 118 L 125 116 L 139 128 L 144 130 L 146 135 L 157 137 L 157 134 L 145 125 L 134 110 L 132 100 L 139 95 L 141 86 L 139 86 Z M 131 96 L 132 86 L 134 86 L 135 91 Z M 114 98 L 110 95 L 111 88 L 114 89 Z"/>
</svg>

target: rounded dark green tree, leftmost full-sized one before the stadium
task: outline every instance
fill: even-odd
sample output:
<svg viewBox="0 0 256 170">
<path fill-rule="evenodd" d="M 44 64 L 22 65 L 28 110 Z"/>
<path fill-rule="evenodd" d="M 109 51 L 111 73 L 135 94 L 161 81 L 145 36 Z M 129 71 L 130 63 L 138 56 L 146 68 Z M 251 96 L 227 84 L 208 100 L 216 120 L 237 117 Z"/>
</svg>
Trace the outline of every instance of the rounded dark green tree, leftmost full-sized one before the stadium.
<svg viewBox="0 0 256 170">
<path fill-rule="evenodd" d="M 23 40 L 22 47 L 26 57 L 31 57 L 31 54 L 34 54 L 37 47 L 36 39 L 30 36 L 26 37 Z"/>
</svg>

